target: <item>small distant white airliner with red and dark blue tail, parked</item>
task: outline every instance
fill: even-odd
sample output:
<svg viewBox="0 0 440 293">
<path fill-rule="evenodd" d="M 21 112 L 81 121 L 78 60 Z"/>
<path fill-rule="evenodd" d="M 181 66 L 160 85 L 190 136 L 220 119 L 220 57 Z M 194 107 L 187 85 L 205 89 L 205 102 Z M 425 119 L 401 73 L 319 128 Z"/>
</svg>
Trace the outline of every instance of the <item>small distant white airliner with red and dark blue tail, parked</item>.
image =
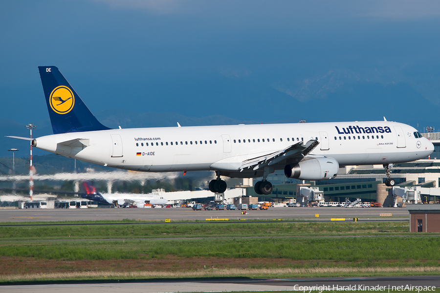
<svg viewBox="0 0 440 293">
<path fill-rule="evenodd" d="M 87 182 L 83 182 L 85 194 L 81 194 L 82 198 L 96 201 L 103 204 L 109 204 L 114 206 L 126 206 L 126 205 L 165 205 L 168 201 L 160 194 L 138 194 L 138 193 L 99 193 L 94 186 L 89 185 Z"/>
</svg>

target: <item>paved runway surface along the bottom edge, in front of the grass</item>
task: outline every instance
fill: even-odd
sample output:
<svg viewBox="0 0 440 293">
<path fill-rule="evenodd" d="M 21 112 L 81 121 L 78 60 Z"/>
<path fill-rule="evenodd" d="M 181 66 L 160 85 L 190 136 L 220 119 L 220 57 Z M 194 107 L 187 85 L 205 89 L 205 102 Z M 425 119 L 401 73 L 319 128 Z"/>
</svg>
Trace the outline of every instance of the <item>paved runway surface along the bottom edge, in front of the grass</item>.
<svg viewBox="0 0 440 293">
<path fill-rule="evenodd" d="M 315 287 L 314 287 L 315 286 Z M 393 277 L 349 277 L 349 278 L 291 278 L 291 279 L 239 279 L 204 281 L 167 281 L 137 283 L 90 283 L 56 285 L 0 286 L 2 293 L 165 293 L 165 292 L 230 292 L 230 291 L 346 291 L 366 290 L 367 287 L 382 286 L 383 289 L 408 292 L 429 292 L 440 286 L 440 276 L 393 276 Z M 400 290 L 396 290 L 398 286 Z M 338 290 L 339 288 L 339 290 Z M 374 290 L 373 290 L 374 291 Z"/>
</svg>

